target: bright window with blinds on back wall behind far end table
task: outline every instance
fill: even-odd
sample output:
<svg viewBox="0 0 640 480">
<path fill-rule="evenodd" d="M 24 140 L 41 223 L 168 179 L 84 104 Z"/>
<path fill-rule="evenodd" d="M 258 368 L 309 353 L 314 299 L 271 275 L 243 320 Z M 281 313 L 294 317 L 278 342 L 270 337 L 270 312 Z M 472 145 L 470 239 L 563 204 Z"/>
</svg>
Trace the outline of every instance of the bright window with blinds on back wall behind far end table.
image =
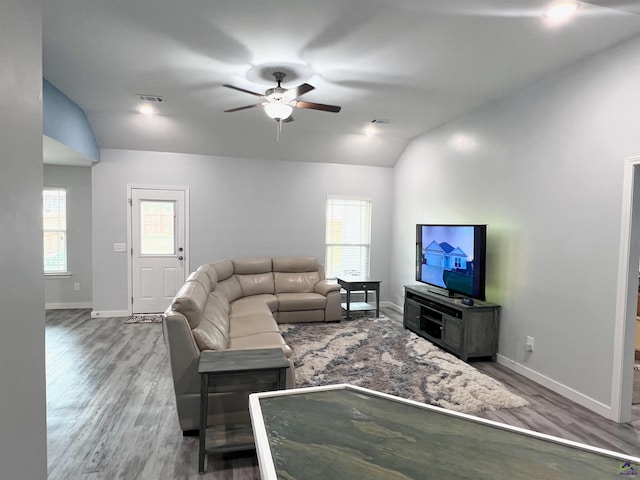
<svg viewBox="0 0 640 480">
<path fill-rule="evenodd" d="M 369 276 L 371 200 L 327 199 L 326 276 Z"/>
</svg>

